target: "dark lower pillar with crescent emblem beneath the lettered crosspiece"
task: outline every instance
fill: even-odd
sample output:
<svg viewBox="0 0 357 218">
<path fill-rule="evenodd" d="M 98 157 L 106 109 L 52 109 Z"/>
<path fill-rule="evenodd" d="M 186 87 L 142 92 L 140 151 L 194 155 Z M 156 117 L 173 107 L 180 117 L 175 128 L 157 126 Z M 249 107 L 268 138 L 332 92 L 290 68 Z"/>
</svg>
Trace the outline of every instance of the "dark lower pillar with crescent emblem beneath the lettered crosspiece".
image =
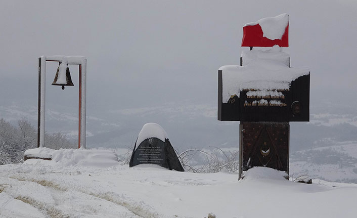
<svg viewBox="0 0 357 218">
<path fill-rule="evenodd" d="M 289 174 L 289 122 L 240 122 L 239 179 L 254 166 Z"/>
</svg>

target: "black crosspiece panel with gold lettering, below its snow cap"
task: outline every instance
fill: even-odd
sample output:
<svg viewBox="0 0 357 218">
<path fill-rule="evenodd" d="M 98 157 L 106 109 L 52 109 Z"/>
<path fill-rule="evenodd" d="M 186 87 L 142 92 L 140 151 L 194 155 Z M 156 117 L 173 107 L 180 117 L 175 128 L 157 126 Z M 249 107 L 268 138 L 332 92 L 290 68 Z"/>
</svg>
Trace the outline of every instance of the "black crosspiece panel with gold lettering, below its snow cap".
<svg viewBox="0 0 357 218">
<path fill-rule="evenodd" d="M 310 74 L 291 82 L 290 89 L 245 89 L 222 102 L 222 71 L 218 71 L 218 120 L 309 121 Z"/>
</svg>

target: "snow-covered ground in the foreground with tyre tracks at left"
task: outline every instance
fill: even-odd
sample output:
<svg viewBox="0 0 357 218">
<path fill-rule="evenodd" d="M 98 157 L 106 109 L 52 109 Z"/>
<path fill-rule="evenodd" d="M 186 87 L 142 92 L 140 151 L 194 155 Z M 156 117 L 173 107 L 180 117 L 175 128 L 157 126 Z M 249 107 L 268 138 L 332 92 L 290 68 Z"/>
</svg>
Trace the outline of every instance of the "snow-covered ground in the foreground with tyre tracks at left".
<svg viewBox="0 0 357 218">
<path fill-rule="evenodd" d="M 177 172 L 146 164 L 129 168 L 115 161 L 112 151 L 61 149 L 44 153 L 52 160 L 28 159 L 23 164 L 0 166 L 0 217 L 357 214 L 357 184 L 295 183 L 284 179 L 284 172 L 264 167 L 248 170 L 238 181 L 237 175 L 227 172 Z"/>
</svg>

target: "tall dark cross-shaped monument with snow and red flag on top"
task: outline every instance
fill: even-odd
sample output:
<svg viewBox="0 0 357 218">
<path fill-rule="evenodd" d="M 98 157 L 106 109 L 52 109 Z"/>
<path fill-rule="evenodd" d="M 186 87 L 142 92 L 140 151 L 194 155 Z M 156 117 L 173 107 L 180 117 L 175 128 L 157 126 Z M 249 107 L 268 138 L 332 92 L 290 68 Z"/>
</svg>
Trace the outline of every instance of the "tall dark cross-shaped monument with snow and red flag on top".
<svg viewBox="0 0 357 218">
<path fill-rule="evenodd" d="M 289 173 L 289 122 L 309 121 L 310 71 L 290 67 L 288 31 L 288 14 L 246 24 L 250 51 L 218 70 L 218 120 L 240 121 L 239 179 L 254 166 Z"/>
</svg>

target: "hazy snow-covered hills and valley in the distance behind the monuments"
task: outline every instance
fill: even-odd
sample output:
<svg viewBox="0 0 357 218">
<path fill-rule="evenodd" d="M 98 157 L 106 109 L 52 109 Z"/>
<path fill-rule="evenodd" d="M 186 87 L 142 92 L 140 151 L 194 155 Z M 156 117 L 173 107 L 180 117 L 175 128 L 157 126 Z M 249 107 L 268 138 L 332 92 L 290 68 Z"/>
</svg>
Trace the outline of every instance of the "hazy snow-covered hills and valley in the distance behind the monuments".
<svg viewBox="0 0 357 218">
<path fill-rule="evenodd" d="M 155 107 L 96 111 L 87 108 L 88 148 L 132 148 L 141 127 L 159 123 L 172 146 L 179 152 L 211 147 L 238 150 L 239 122 L 217 121 L 216 105 L 166 103 Z M 0 106 L 0 117 L 11 122 L 25 117 L 37 125 L 37 106 L 15 104 Z M 46 131 L 77 139 L 77 109 L 49 105 Z M 310 122 L 290 123 L 290 171 L 329 181 L 356 182 L 357 111 L 350 105 L 329 102 L 310 108 Z M 313 150 L 311 150 L 313 149 Z M 331 171 L 336 172 L 331 176 Z"/>
</svg>

